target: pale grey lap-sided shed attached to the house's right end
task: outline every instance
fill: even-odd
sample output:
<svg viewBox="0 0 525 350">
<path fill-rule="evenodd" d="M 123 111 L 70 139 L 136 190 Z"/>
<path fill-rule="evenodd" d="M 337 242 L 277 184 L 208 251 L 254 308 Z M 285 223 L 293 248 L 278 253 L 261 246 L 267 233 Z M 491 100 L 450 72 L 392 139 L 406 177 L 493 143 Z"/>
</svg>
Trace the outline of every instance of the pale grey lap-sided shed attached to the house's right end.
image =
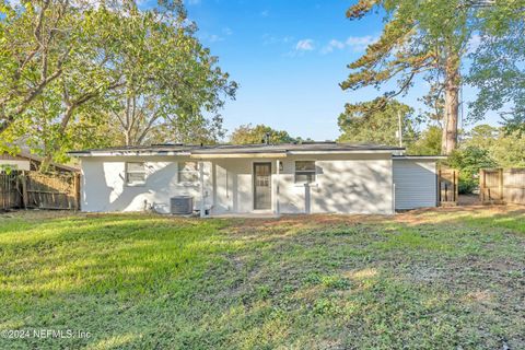
<svg viewBox="0 0 525 350">
<path fill-rule="evenodd" d="M 397 159 L 393 163 L 396 209 L 435 207 L 435 161 Z"/>
</svg>

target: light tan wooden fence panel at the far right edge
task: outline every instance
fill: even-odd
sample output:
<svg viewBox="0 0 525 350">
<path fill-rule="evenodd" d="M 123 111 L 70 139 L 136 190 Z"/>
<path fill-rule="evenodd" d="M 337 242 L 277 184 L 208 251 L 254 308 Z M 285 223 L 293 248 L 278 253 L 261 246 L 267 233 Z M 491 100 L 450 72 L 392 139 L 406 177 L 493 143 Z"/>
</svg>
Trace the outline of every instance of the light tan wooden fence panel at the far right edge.
<svg viewBox="0 0 525 350">
<path fill-rule="evenodd" d="M 482 168 L 479 196 L 483 203 L 525 205 L 525 168 Z"/>
</svg>

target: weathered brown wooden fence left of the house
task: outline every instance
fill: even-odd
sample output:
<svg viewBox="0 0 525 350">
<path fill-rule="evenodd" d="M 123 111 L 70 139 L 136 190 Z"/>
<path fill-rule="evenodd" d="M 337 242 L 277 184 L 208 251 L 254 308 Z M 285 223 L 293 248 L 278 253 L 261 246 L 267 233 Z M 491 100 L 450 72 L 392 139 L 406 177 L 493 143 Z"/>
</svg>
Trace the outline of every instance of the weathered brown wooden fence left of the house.
<svg viewBox="0 0 525 350">
<path fill-rule="evenodd" d="M 0 174 L 0 194 L 2 198 L 9 198 L 0 202 L 5 203 L 0 207 L 3 210 L 14 208 L 79 210 L 80 175 L 75 173 L 49 175 L 36 172 Z"/>
</svg>

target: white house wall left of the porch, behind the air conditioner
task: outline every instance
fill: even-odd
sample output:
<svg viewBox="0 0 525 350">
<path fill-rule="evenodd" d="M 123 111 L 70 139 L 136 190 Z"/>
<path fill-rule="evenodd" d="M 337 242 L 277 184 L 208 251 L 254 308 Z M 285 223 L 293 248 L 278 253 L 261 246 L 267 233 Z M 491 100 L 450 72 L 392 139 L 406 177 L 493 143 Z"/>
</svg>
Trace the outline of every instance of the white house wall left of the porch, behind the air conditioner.
<svg viewBox="0 0 525 350">
<path fill-rule="evenodd" d="M 173 156 L 109 156 L 83 158 L 82 202 L 83 211 L 143 211 L 152 206 L 155 211 L 170 212 L 170 198 L 177 195 L 194 196 L 194 207 L 200 207 L 200 186 L 178 184 L 177 161 L 189 159 Z M 125 184 L 126 162 L 145 162 L 145 184 Z M 205 163 L 206 207 L 212 203 L 211 164 Z"/>
</svg>

